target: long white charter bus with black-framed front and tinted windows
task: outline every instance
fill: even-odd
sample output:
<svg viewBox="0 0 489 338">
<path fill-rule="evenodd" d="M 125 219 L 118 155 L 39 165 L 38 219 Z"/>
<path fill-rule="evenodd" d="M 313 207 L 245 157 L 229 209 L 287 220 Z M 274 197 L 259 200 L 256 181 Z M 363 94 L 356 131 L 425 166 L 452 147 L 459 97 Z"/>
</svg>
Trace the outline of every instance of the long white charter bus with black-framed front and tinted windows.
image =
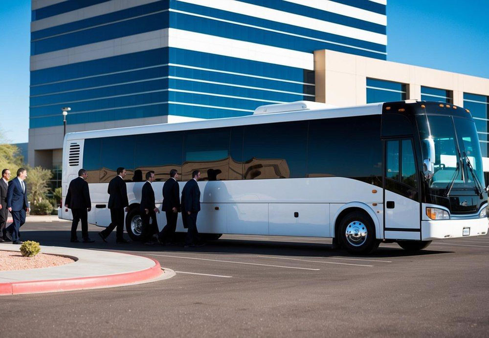
<svg viewBox="0 0 489 338">
<path fill-rule="evenodd" d="M 421 250 L 434 239 L 488 232 L 487 190 L 474 121 L 458 106 L 402 101 L 317 108 L 261 106 L 251 116 L 66 135 L 63 196 L 88 170 L 89 223 L 107 227 L 107 186 L 127 170 L 126 230 L 141 231 L 143 177 L 177 169 L 180 191 L 199 169 L 199 232 L 332 237 L 353 253 L 380 242 Z M 315 109 L 314 109 L 315 107 Z M 60 209 L 60 218 L 71 219 Z M 157 215 L 159 229 L 165 214 Z M 178 232 L 185 232 L 181 216 Z"/>
</svg>

